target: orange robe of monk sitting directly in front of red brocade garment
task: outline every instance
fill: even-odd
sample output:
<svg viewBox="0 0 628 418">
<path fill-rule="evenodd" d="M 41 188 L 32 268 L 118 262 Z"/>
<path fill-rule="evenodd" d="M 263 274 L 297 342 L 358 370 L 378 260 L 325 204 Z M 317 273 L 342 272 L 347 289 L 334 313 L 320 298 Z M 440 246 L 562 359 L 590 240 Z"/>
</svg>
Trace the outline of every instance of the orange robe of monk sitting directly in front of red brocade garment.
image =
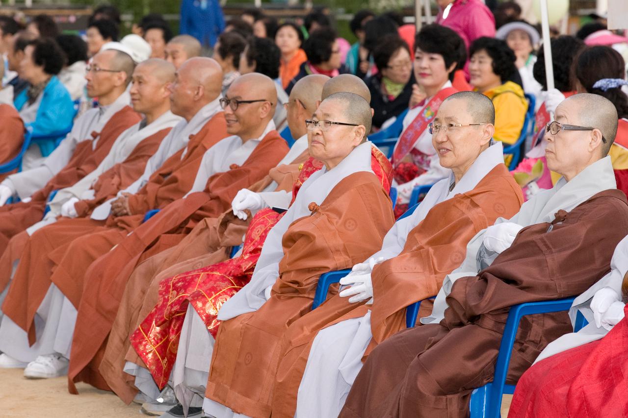
<svg viewBox="0 0 628 418">
<path fill-rule="evenodd" d="M 318 277 L 374 254 L 394 223 L 386 190 L 364 171 L 345 177 L 310 209 L 311 216 L 283 235 L 284 256 L 268 301 L 220 324 L 205 395 L 241 414 L 270 415 L 281 337 L 310 311 Z"/>
</svg>

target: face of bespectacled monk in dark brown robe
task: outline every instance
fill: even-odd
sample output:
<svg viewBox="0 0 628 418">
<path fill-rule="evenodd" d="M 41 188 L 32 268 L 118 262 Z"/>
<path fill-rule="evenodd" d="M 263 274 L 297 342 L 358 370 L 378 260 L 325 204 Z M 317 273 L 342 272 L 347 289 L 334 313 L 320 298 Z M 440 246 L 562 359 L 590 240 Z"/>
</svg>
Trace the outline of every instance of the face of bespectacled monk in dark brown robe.
<svg viewBox="0 0 628 418">
<path fill-rule="evenodd" d="M 563 101 L 556 107 L 554 114 L 554 120 L 558 122 L 555 124 L 555 129 L 560 129 L 562 125 L 588 127 L 587 122 L 582 121 L 581 112 L 582 104 L 578 100 Z M 597 128 L 593 131 L 560 129 L 556 134 L 553 134 L 551 130 L 546 131 L 545 157 L 548 168 L 570 180 L 573 177 L 570 175 L 572 172 L 578 173 L 589 164 L 592 146 L 599 142 L 596 137 L 600 140 L 602 138 L 602 132 Z"/>
</svg>

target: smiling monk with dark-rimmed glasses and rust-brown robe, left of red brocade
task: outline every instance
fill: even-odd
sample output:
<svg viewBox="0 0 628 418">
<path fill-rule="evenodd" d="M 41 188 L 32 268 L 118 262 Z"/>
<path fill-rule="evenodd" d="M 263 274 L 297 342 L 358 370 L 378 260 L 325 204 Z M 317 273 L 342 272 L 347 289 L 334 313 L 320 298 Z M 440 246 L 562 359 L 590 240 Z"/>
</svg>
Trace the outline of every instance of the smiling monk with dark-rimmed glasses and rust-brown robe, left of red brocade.
<svg viewBox="0 0 628 418">
<path fill-rule="evenodd" d="M 99 357 L 94 355 L 106 341 L 126 280 L 138 262 L 181 242 L 203 218 L 219 217 L 229 208 L 237 191 L 262 180 L 288 152 L 286 141 L 274 129 L 276 104 L 271 78 L 259 73 L 237 78 L 220 99 L 227 132 L 232 135 L 203 155 L 192 188 L 183 198 L 162 206 L 154 217 L 133 227 L 133 233 L 117 240 L 115 248 L 99 247 L 99 258 L 89 268 L 85 261 L 92 257 L 95 246 L 84 249 L 91 244 L 85 237 L 72 242 L 53 274 L 54 281 L 65 262 L 69 267 L 65 269 L 65 282 L 85 283 L 70 355 L 71 390 L 73 380 L 88 380 L 108 389 L 97 372 Z M 122 201 L 121 206 L 124 205 Z M 119 219 L 109 229 L 126 232 L 129 225 L 133 224 Z"/>
</svg>

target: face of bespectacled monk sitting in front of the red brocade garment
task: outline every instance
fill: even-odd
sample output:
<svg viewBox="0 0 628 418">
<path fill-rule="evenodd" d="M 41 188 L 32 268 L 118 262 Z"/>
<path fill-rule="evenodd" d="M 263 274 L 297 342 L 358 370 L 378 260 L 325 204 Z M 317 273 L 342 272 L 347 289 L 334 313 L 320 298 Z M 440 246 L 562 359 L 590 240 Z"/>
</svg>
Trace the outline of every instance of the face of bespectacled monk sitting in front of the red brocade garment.
<svg viewBox="0 0 628 418">
<path fill-rule="evenodd" d="M 319 123 L 308 126 L 310 156 L 322 161 L 327 169 L 337 166 L 364 137 L 364 126 L 349 121 L 346 113 L 346 105 L 342 101 L 323 100 L 311 119 Z M 340 122 L 342 125 L 330 124 L 325 127 L 322 126 L 325 122 L 321 121 Z"/>
</svg>

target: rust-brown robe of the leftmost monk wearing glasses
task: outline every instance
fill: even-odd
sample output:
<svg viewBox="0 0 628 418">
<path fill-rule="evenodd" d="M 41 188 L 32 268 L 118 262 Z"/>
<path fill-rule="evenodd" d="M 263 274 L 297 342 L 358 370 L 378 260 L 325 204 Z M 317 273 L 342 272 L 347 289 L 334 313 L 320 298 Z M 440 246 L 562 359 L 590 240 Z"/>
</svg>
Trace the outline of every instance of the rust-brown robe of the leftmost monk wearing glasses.
<svg viewBox="0 0 628 418">
<path fill-rule="evenodd" d="M 94 138 L 98 137 L 95 148 L 92 149 L 92 141 L 79 142 L 68 164 L 43 188 L 33 193 L 31 201 L 0 207 L 0 254 L 6 249 L 11 237 L 41 220 L 52 191 L 72 186 L 91 173 L 109 154 L 117 137 L 140 119 L 139 114 L 131 107 L 123 107 L 109 119 L 102 131 L 92 132 Z"/>
</svg>

